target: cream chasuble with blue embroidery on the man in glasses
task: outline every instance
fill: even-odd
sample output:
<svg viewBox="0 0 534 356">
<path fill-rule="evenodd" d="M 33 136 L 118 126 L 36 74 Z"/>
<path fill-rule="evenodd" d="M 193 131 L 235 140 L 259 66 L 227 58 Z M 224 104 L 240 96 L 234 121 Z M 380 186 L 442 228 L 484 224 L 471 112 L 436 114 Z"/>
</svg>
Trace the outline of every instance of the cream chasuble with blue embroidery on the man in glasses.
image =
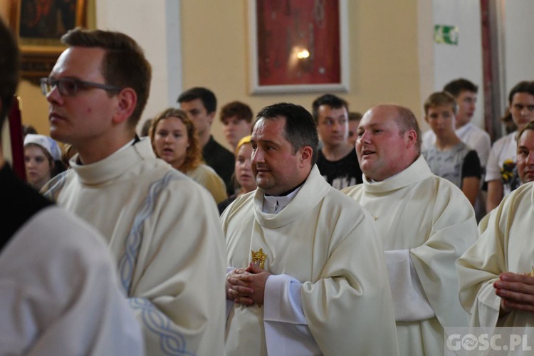
<svg viewBox="0 0 534 356">
<path fill-rule="evenodd" d="M 219 354 L 226 256 L 213 197 L 148 138 L 93 164 L 76 157 L 46 196 L 105 237 L 147 355 Z"/>
</svg>

